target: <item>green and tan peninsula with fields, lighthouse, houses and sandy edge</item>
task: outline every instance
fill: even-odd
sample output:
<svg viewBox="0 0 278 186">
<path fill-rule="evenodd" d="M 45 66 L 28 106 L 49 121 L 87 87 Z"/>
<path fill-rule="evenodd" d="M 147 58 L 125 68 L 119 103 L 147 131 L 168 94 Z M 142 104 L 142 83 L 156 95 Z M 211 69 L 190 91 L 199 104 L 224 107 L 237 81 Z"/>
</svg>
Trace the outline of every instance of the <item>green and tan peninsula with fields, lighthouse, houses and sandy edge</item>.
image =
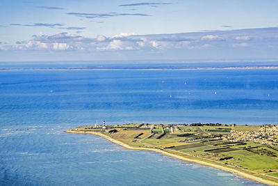
<svg viewBox="0 0 278 186">
<path fill-rule="evenodd" d="M 278 185 L 278 125 L 104 123 L 66 132 L 95 134 L 127 149 L 153 150 Z"/>
</svg>

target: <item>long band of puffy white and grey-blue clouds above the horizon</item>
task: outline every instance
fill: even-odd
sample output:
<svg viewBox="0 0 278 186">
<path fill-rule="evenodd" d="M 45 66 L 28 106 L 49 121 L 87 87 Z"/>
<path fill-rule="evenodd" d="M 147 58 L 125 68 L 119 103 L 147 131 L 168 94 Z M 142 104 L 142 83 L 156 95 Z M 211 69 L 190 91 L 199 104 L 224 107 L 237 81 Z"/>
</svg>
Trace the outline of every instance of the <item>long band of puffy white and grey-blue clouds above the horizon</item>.
<svg viewBox="0 0 278 186">
<path fill-rule="evenodd" d="M 0 45 L 0 49 L 26 51 L 83 50 L 89 52 L 89 54 L 90 52 L 96 52 L 97 54 L 97 52 L 101 50 L 113 52 L 121 50 L 138 50 L 140 52 L 142 51 L 143 54 L 143 52 L 148 51 L 174 52 L 174 50 L 177 50 L 186 52 L 186 50 L 190 49 L 218 49 L 218 51 L 222 51 L 229 47 L 250 47 L 250 45 L 253 45 L 253 42 L 251 42 L 251 40 L 256 41 L 256 43 L 264 42 L 264 46 L 272 45 L 272 48 L 274 49 L 277 46 L 277 40 L 273 38 L 277 37 L 277 32 L 271 31 L 270 33 L 268 35 L 262 35 L 261 32 L 252 32 L 252 37 L 247 31 L 211 31 L 209 33 L 165 33 L 153 35 L 134 35 L 135 33 L 120 33 L 119 35 L 113 37 L 106 37 L 99 34 L 99 36 L 95 38 L 88 38 L 77 34 L 58 33 L 52 36 L 33 36 L 30 40 L 19 41 L 15 45 Z M 260 38 L 260 40 L 258 40 L 258 38 Z M 270 40 L 270 38 L 272 38 L 272 40 Z M 221 42 L 211 42 L 212 40 Z M 250 40 L 250 43 L 247 40 Z M 138 52 L 138 54 L 140 52 Z"/>
</svg>

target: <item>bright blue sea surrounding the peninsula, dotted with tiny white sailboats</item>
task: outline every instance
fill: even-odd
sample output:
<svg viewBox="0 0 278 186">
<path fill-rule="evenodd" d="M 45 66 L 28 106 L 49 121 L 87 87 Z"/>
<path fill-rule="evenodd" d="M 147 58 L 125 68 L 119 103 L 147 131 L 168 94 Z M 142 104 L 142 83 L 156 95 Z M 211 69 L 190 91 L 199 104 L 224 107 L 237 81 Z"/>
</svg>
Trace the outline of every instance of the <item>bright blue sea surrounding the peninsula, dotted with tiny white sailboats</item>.
<svg viewBox="0 0 278 186">
<path fill-rule="evenodd" d="M 15 66 L 0 65 L 0 185 L 263 185 L 65 130 L 103 120 L 277 124 L 277 69 Z"/>
</svg>

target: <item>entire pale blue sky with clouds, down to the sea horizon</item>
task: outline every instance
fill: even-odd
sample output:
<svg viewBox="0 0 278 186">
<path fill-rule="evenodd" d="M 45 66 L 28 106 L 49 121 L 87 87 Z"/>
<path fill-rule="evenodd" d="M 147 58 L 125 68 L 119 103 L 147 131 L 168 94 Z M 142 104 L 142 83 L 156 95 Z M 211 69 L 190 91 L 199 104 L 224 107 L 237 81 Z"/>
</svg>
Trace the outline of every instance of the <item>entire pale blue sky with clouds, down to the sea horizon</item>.
<svg viewBox="0 0 278 186">
<path fill-rule="evenodd" d="M 0 1 L 0 61 L 278 59 L 278 1 Z"/>
</svg>

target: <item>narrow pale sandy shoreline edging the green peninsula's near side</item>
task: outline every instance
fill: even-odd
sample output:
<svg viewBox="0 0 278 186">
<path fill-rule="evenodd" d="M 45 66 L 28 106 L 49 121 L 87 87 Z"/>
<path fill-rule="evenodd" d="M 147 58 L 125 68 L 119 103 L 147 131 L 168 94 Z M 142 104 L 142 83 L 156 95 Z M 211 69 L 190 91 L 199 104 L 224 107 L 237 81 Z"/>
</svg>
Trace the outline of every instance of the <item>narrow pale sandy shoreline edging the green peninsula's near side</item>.
<svg viewBox="0 0 278 186">
<path fill-rule="evenodd" d="M 105 139 L 108 139 L 109 141 L 115 143 L 115 144 L 118 144 L 120 146 L 123 146 L 124 148 L 126 149 L 129 149 L 129 150 L 149 150 L 149 151 L 154 151 L 156 153 L 161 153 L 163 155 L 167 155 L 169 157 L 174 157 L 176 159 L 179 159 L 179 160 L 182 160 L 182 161 L 185 161 L 185 162 L 193 162 L 193 163 L 197 163 L 197 164 L 202 164 L 204 166 L 211 166 L 215 169 L 221 169 L 223 171 L 229 171 L 231 173 L 235 173 L 236 175 L 238 176 L 241 176 L 243 178 L 247 178 L 249 180 L 255 180 L 259 183 L 264 183 L 264 184 L 267 184 L 267 185 L 278 185 L 278 183 L 275 183 L 273 181 L 270 181 L 270 180 L 265 180 L 263 178 L 259 178 L 257 176 L 253 176 L 249 173 L 244 173 L 242 171 L 238 171 L 236 169 L 231 169 L 231 168 L 228 168 L 228 167 L 225 167 L 225 166 L 221 166 L 221 165 L 218 165 L 218 164 L 213 164 L 213 163 L 209 163 L 209 162 L 204 162 L 202 160 L 195 160 L 193 158 L 188 158 L 188 157 L 182 157 L 180 155 L 174 155 L 172 153 L 168 153 L 168 152 L 165 152 L 164 150 L 159 150 L 159 149 L 155 149 L 155 148 L 140 148 L 140 147 L 132 147 L 132 146 L 129 146 L 127 144 L 124 144 L 122 141 L 117 141 L 111 137 L 108 137 L 106 136 L 105 134 L 101 134 L 101 133 L 98 133 L 98 132 L 74 132 L 74 131 L 70 131 L 70 130 L 67 130 L 66 131 L 67 133 L 73 133 L 73 134 L 94 134 L 94 135 L 97 135 L 99 137 L 104 137 Z"/>
</svg>

